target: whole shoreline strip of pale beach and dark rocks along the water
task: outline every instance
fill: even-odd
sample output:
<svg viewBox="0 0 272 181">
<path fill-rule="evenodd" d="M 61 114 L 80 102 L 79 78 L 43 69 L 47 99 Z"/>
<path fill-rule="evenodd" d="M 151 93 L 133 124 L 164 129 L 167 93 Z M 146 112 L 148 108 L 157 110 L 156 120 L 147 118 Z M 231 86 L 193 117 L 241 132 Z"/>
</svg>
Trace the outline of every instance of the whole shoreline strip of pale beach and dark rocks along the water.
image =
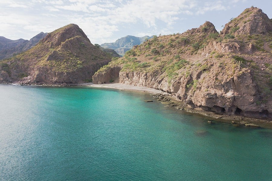
<svg viewBox="0 0 272 181">
<path fill-rule="evenodd" d="M 22 85 L 18 83 L 1 83 L 1 84 Z M 79 86 L 79 87 L 96 87 L 96 88 L 109 88 L 109 89 L 118 89 L 118 90 L 132 90 L 132 91 L 148 92 L 151 94 L 161 95 L 165 97 L 165 100 L 160 101 L 154 98 L 155 95 L 151 95 L 151 98 L 154 101 L 160 102 L 164 104 L 165 106 L 169 106 L 186 113 L 201 115 L 201 116 L 207 117 L 210 120 L 214 120 L 217 122 L 232 123 L 234 126 L 241 126 L 241 125 L 245 126 L 245 123 L 254 123 L 261 128 L 272 129 L 272 122 L 267 119 L 248 118 L 248 117 L 238 116 L 238 115 L 220 115 L 213 112 L 201 110 L 200 108 L 192 108 L 186 105 L 186 103 L 183 103 L 180 100 L 176 100 L 171 94 L 168 94 L 162 90 L 157 90 L 157 89 L 153 89 L 149 87 L 140 87 L 140 86 L 134 86 L 134 85 L 128 85 L 128 84 L 121 84 L 121 83 L 93 84 L 91 82 L 82 83 L 82 84 L 67 84 L 65 86 L 61 84 L 59 85 L 58 84 L 26 84 L 26 86 L 52 86 L 52 87 Z"/>
</svg>

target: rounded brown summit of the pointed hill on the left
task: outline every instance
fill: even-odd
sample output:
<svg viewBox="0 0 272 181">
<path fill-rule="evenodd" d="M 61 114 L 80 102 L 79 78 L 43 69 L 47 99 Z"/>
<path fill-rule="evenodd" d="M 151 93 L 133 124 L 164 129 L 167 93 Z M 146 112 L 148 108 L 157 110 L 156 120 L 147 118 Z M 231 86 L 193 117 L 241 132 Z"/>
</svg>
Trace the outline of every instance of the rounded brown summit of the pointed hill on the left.
<svg viewBox="0 0 272 181">
<path fill-rule="evenodd" d="M 52 47 L 59 46 L 62 42 L 73 37 L 82 37 L 90 42 L 86 34 L 76 24 L 68 24 L 51 33 L 48 33 L 42 40 L 42 43 L 50 42 Z"/>
</svg>

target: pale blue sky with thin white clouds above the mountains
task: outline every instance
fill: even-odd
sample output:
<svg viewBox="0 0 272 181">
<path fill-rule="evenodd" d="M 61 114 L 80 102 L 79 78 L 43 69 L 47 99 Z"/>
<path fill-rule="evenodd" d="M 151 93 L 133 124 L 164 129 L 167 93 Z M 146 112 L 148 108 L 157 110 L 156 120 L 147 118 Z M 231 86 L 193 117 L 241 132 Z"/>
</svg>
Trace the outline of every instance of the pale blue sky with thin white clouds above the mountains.
<svg viewBox="0 0 272 181">
<path fill-rule="evenodd" d="M 245 8 L 272 17 L 271 0 L 0 0 L 0 36 L 29 40 L 74 23 L 91 42 L 183 33 L 210 21 L 220 31 Z"/>
</svg>

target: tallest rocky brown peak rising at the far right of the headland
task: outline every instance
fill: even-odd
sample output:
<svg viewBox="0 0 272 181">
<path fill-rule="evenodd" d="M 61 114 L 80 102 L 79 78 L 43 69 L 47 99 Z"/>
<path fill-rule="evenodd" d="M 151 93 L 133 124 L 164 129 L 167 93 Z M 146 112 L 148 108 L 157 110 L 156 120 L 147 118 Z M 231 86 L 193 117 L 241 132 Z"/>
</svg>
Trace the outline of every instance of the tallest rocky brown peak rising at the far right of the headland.
<svg viewBox="0 0 272 181">
<path fill-rule="evenodd" d="M 259 8 L 245 9 L 238 17 L 225 24 L 221 34 L 267 34 L 272 31 L 272 22 Z"/>
</svg>

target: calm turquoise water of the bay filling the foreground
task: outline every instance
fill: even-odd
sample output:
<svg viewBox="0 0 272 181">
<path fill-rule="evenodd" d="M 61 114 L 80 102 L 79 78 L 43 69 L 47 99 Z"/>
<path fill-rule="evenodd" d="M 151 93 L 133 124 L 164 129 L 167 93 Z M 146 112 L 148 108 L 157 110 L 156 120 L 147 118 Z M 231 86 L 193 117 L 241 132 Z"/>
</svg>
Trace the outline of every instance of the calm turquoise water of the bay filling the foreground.
<svg viewBox="0 0 272 181">
<path fill-rule="evenodd" d="M 87 87 L 0 85 L 0 180 L 271 180 L 272 132 Z"/>
</svg>

